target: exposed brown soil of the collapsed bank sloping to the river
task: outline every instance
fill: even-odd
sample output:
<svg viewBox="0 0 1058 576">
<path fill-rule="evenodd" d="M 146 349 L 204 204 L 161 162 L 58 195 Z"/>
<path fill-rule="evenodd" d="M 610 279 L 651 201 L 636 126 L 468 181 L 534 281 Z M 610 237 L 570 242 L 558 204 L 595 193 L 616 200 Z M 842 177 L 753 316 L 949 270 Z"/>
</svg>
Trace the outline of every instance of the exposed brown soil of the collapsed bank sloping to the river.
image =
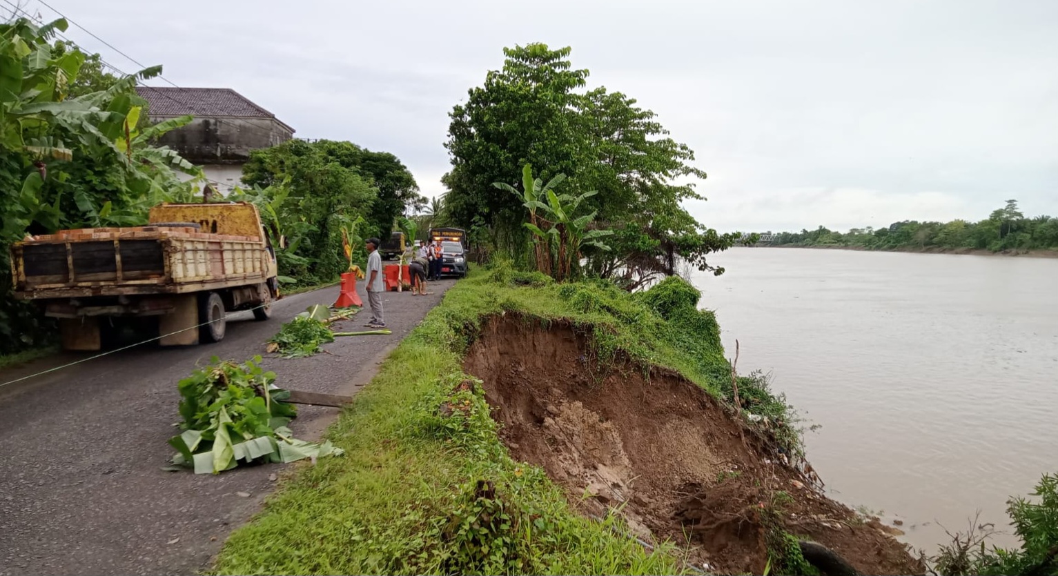
<svg viewBox="0 0 1058 576">
<path fill-rule="evenodd" d="M 511 456 L 542 466 L 581 514 L 623 506 L 639 538 L 674 542 L 715 573 L 761 574 L 784 533 L 860 574 L 924 572 L 884 526 L 814 489 L 780 463 L 766 430 L 701 388 L 625 360 L 592 374 L 590 357 L 587 334 L 508 314 L 487 322 L 463 363 Z"/>
</svg>

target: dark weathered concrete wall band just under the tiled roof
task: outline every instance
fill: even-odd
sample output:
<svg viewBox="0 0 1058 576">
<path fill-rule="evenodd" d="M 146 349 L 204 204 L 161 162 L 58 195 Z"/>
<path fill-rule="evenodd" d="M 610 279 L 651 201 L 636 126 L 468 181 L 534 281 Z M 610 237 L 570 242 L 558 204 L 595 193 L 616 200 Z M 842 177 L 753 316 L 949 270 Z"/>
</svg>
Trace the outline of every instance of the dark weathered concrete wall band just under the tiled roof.
<svg viewBox="0 0 1058 576">
<path fill-rule="evenodd" d="M 163 135 L 159 144 L 179 151 L 193 164 L 241 165 L 250 159 L 251 150 L 269 148 L 292 137 L 293 131 L 275 118 L 199 117 Z"/>
</svg>

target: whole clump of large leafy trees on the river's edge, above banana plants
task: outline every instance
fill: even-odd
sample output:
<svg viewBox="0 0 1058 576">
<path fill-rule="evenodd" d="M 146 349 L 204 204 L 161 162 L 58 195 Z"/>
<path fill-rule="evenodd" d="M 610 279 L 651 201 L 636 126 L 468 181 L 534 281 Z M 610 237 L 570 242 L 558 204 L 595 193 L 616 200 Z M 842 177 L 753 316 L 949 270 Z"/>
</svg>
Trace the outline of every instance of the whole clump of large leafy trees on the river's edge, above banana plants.
<svg viewBox="0 0 1058 576">
<path fill-rule="evenodd" d="M 634 98 L 605 88 L 582 92 L 588 71 L 572 68 L 569 48 L 534 43 L 504 53 L 503 69 L 489 72 L 450 114 L 445 219 L 468 228 L 479 247 L 529 263 L 523 200 L 492 184 L 519 188 L 522 168 L 531 164 L 544 182 L 567 175 L 564 190 L 572 198 L 598 192 L 586 199 L 585 211 L 615 234 L 606 240 L 612 249 L 584 250 L 594 275 L 635 289 L 676 274 L 682 263 L 722 273 L 707 256 L 740 235 L 706 228 L 680 206 L 703 199 L 694 181 L 706 174 L 691 164 L 693 152 Z M 687 182 L 674 184 L 681 179 Z"/>
</svg>

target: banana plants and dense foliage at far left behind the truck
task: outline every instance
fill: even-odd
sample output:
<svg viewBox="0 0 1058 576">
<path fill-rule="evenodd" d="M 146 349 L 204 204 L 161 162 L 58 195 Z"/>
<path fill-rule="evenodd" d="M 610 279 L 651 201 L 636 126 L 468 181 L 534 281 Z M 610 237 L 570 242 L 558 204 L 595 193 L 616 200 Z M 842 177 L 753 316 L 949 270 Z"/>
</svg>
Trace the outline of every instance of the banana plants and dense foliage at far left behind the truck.
<svg viewBox="0 0 1058 576">
<path fill-rule="evenodd" d="M 153 204 L 184 198 L 199 173 L 151 140 L 190 120 L 143 128 L 139 80 L 80 76 L 90 57 L 52 40 L 65 20 L 0 24 L 0 354 L 39 346 L 52 334 L 37 311 L 13 300 L 8 247 L 29 234 L 146 222 Z"/>
</svg>

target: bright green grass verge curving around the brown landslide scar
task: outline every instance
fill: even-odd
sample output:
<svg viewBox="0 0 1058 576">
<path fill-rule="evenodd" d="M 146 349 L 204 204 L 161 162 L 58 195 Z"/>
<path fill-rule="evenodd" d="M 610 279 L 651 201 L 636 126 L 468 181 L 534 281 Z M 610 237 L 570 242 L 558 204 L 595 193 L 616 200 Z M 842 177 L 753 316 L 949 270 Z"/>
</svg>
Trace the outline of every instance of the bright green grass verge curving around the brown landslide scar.
<svg viewBox="0 0 1058 576">
<path fill-rule="evenodd" d="M 678 572 L 674 555 L 647 554 L 619 520 L 571 513 L 542 470 L 508 457 L 480 392 L 452 390 L 463 379 L 460 359 L 480 321 L 516 311 L 594 326 L 601 366 L 622 350 L 726 395 L 729 368 L 712 314 L 670 310 L 664 294 L 646 295 L 665 320 L 643 305 L 644 297 L 602 284 L 516 285 L 532 280 L 540 278 L 475 271 L 449 291 L 331 427 L 329 438 L 346 456 L 293 475 L 232 535 L 216 572 Z M 785 409 L 766 400 L 761 411 Z M 456 408 L 453 417 L 437 414 L 442 404 Z M 494 482 L 495 500 L 477 498 L 478 480 Z"/>
</svg>

